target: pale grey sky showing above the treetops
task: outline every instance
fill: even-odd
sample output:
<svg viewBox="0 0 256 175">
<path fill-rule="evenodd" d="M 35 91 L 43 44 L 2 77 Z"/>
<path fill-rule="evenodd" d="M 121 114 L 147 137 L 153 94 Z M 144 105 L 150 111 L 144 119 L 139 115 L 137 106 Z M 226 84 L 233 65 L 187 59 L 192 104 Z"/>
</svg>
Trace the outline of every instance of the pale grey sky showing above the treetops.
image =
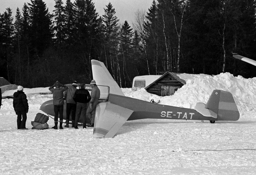
<svg viewBox="0 0 256 175">
<path fill-rule="evenodd" d="M 74 2 L 75 0 L 71 0 Z M 49 12 L 52 13 L 55 5 L 54 0 L 44 0 L 46 6 L 49 8 Z M 66 3 L 66 0 L 63 0 Z M 123 24 L 125 20 L 128 21 L 130 26 L 134 22 L 135 12 L 138 10 L 148 11 L 152 5 L 153 0 L 92 0 L 95 5 L 96 11 L 100 16 L 104 14 L 104 8 L 110 2 L 116 11 L 116 17 Z M 19 7 L 20 11 L 24 3 L 31 3 L 30 0 L 0 0 L 0 13 L 3 13 L 6 8 L 12 9 L 12 16 L 16 14 L 16 9 Z"/>
</svg>

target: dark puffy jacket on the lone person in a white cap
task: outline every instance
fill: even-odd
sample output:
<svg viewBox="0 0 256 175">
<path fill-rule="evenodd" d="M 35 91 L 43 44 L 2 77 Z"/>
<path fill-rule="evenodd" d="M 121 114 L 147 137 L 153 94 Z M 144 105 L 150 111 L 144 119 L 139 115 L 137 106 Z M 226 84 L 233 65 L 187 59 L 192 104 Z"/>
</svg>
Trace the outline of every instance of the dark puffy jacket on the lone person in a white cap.
<svg viewBox="0 0 256 175">
<path fill-rule="evenodd" d="M 13 94 L 13 108 L 15 111 L 28 110 L 28 99 L 23 91 L 17 91 Z"/>
</svg>

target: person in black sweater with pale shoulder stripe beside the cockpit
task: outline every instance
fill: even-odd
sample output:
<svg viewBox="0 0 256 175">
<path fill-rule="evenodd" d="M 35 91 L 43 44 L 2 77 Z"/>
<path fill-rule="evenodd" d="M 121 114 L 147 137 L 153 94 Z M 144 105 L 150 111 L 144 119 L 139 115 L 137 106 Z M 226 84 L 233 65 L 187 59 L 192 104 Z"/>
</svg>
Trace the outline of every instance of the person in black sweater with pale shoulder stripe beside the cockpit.
<svg viewBox="0 0 256 175">
<path fill-rule="evenodd" d="M 76 90 L 73 99 L 76 102 L 76 119 L 75 129 L 78 129 L 78 120 L 80 116 L 83 117 L 83 128 L 86 128 L 86 109 L 87 103 L 91 100 L 91 96 L 88 90 L 84 89 L 84 83 L 81 84 L 81 89 Z"/>
</svg>

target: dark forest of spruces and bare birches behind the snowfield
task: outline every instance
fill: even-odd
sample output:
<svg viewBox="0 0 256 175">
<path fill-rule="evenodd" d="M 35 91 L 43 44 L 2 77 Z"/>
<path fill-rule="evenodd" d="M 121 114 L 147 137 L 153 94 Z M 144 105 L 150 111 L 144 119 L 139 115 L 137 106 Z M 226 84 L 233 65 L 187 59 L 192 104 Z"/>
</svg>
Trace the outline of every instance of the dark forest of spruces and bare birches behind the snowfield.
<svg viewBox="0 0 256 175">
<path fill-rule="evenodd" d="M 256 76 L 255 0 L 158 0 L 120 24 L 111 3 L 99 16 L 92 0 L 43 0 L 0 13 L 0 73 L 27 88 L 89 83 L 91 60 L 104 62 L 121 87 L 134 76 L 166 71 Z"/>
</svg>

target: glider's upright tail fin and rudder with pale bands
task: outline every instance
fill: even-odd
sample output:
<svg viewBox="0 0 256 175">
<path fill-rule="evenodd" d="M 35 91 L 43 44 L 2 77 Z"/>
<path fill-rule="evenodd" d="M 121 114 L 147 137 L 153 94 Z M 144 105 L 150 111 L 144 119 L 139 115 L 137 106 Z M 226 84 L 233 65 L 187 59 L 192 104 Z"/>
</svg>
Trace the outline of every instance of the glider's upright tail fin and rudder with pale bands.
<svg viewBox="0 0 256 175">
<path fill-rule="evenodd" d="M 240 114 L 232 94 L 228 91 L 214 90 L 205 108 L 217 114 L 217 120 L 236 121 Z"/>
</svg>

